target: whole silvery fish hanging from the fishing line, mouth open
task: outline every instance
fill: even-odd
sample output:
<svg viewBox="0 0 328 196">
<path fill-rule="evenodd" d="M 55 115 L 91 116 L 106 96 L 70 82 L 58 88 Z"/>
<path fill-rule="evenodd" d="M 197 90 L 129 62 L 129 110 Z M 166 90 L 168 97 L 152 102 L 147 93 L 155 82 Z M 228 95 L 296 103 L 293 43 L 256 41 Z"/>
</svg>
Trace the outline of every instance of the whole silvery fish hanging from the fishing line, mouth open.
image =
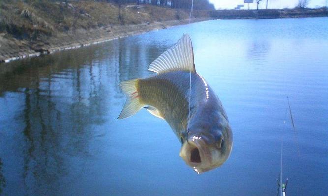
<svg viewBox="0 0 328 196">
<path fill-rule="evenodd" d="M 182 144 L 180 157 L 195 172 L 221 166 L 232 150 L 232 129 L 220 99 L 196 72 L 189 35 L 183 34 L 148 70 L 157 75 L 119 83 L 127 100 L 118 119 L 145 108 L 170 125 Z"/>
</svg>

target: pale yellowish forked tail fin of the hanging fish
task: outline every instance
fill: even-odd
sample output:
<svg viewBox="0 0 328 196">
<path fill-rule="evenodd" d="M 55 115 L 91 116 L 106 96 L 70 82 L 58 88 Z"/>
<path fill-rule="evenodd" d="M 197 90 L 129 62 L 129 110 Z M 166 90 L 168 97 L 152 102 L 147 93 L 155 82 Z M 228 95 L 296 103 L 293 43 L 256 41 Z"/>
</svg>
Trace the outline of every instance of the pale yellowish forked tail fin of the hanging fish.
<svg viewBox="0 0 328 196">
<path fill-rule="evenodd" d="M 138 79 L 127 80 L 119 83 L 119 87 L 126 94 L 127 99 L 118 119 L 125 119 L 137 113 L 142 104 L 139 101 L 139 94 L 136 87 Z"/>
</svg>

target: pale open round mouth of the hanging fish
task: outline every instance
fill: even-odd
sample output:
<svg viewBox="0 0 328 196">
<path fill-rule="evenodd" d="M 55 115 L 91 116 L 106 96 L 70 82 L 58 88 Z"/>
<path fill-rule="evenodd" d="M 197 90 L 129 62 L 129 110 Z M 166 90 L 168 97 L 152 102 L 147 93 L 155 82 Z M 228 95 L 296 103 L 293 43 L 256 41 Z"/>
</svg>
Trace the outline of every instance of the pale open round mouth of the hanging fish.
<svg viewBox="0 0 328 196">
<path fill-rule="evenodd" d="M 193 167 L 195 172 L 202 173 L 207 171 L 211 165 L 212 157 L 206 143 L 200 137 L 192 137 L 185 141 L 180 150 L 180 157 L 188 164 Z"/>
</svg>

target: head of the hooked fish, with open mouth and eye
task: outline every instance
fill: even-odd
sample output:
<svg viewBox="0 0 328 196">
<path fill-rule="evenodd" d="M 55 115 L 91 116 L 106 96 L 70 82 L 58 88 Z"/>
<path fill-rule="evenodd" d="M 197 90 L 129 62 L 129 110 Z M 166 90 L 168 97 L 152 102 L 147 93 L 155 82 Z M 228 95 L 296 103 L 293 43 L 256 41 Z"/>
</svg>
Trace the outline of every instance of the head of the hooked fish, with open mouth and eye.
<svg viewBox="0 0 328 196">
<path fill-rule="evenodd" d="M 232 131 L 228 123 L 222 126 L 197 125 L 181 138 L 180 156 L 198 174 L 221 166 L 232 149 Z"/>
</svg>

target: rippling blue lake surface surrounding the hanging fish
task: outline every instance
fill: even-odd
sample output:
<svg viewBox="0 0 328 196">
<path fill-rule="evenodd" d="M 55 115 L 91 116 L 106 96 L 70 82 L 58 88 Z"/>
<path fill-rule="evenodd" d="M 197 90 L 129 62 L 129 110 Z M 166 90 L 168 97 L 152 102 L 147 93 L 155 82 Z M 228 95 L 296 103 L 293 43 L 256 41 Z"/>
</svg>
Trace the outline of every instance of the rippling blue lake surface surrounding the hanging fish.
<svg viewBox="0 0 328 196">
<path fill-rule="evenodd" d="M 119 82 L 154 75 L 183 33 L 233 129 L 229 159 L 201 175 L 165 121 L 117 119 Z M 276 196 L 281 140 L 287 195 L 327 195 L 328 18 L 212 20 L 13 63 L 0 78 L 0 195 Z"/>
</svg>

